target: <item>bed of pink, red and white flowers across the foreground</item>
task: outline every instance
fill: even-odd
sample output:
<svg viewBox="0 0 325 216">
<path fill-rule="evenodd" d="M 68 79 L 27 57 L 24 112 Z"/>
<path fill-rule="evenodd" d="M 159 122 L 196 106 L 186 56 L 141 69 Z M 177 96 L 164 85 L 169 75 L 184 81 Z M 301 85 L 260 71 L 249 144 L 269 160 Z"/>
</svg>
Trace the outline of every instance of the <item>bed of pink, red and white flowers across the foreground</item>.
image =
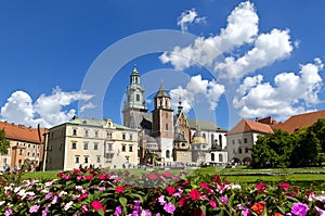
<svg viewBox="0 0 325 216">
<path fill-rule="evenodd" d="M 244 188 L 219 176 L 101 169 L 63 171 L 48 181 L 17 177 L 0 178 L 0 215 L 325 215 L 325 194 L 287 182 Z"/>
</svg>

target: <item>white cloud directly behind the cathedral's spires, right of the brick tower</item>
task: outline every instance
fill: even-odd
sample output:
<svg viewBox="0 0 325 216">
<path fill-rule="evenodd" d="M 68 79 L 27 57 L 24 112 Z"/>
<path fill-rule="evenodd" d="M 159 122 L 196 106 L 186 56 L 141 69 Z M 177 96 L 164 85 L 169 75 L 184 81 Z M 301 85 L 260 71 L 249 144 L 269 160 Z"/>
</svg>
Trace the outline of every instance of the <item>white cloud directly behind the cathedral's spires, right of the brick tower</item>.
<svg viewBox="0 0 325 216">
<path fill-rule="evenodd" d="M 170 90 L 172 109 L 178 106 L 179 98 L 181 97 L 183 111 L 187 113 L 195 103 L 208 101 L 210 110 L 214 110 L 218 105 L 220 97 L 224 93 L 224 86 L 217 84 L 214 80 L 202 79 L 200 75 L 191 77 L 186 88 L 178 87 Z"/>
</svg>

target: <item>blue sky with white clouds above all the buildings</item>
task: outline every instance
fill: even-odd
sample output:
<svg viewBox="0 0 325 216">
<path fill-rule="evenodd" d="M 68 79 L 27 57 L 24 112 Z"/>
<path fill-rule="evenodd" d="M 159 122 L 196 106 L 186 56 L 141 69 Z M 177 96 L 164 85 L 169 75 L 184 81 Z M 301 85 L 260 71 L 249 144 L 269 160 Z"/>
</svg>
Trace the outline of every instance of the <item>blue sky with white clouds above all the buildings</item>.
<svg viewBox="0 0 325 216">
<path fill-rule="evenodd" d="M 0 118 L 34 127 L 73 115 L 121 123 L 134 63 L 150 111 L 161 80 L 173 107 L 181 96 L 188 117 L 227 129 L 243 117 L 324 110 L 324 10 L 316 0 L 0 1 Z M 166 45 L 155 52 L 151 42 Z M 117 56 L 123 64 L 109 71 Z"/>
</svg>

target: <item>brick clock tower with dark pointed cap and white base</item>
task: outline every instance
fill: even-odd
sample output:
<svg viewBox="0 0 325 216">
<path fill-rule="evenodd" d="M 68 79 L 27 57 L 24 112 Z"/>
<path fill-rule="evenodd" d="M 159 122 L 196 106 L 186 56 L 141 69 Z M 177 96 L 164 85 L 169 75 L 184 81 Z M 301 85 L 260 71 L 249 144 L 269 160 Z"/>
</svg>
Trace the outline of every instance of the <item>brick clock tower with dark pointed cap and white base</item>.
<svg viewBox="0 0 325 216">
<path fill-rule="evenodd" d="M 154 100 L 152 136 L 159 144 L 162 161 L 172 162 L 173 111 L 171 110 L 170 97 L 164 89 L 162 81 Z"/>
</svg>

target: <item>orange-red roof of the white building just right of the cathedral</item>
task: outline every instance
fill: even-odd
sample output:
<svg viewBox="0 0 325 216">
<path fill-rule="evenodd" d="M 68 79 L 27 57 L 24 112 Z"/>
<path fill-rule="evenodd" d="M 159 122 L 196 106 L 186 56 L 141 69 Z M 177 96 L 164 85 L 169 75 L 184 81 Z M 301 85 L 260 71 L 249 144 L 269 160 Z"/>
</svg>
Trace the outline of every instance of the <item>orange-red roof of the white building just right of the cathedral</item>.
<svg viewBox="0 0 325 216">
<path fill-rule="evenodd" d="M 243 132 L 263 132 L 263 134 L 273 134 L 273 130 L 270 125 L 262 124 L 259 122 L 252 122 L 249 119 L 242 119 L 233 129 L 231 129 L 227 135 L 233 134 L 243 134 Z"/>
</svg>

